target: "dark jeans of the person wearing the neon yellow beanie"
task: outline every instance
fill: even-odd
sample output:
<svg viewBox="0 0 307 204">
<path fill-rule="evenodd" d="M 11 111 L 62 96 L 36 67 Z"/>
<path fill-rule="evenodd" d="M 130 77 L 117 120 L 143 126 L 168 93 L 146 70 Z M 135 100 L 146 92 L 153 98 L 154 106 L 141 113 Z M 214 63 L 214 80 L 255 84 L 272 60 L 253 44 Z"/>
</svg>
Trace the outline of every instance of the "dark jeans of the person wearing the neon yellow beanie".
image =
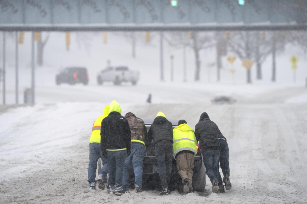
<svg viewBox="0 0 307 204">
<path fill-rule="evenodd" d="M 154 150 L 159 168 L 161 186 L 162 188 L 166 188 L 169 185 L 170 174 L 172 172 L 173 143 L 168 141 L 158 142 Z"/>
</svg>

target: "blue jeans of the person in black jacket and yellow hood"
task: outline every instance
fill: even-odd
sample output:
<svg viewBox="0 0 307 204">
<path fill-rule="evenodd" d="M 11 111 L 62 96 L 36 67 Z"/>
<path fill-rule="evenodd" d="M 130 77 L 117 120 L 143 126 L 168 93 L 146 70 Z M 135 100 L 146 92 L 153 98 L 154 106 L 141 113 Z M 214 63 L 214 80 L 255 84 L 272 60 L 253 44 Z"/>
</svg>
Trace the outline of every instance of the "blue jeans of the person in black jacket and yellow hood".
<svg viewBox="0 0 307 204">
<path fill-rule="evenodd" d="M 127 156 L 127 150 L 107 150 L 109 164 L 109 186 L 111 191 L 122 190 L 122 170 Z"/>
</svg>

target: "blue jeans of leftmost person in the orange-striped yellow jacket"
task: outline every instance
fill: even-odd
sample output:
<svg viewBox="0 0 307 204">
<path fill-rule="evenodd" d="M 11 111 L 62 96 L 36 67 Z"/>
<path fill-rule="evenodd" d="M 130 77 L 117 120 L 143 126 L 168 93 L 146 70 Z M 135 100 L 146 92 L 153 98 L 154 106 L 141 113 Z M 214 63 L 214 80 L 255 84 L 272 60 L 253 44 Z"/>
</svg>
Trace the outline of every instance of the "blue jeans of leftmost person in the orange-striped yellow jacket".
<svg viewBox="0 0 307 204">
<path fill-rule="evenodd" d="M 92 142 L 90 144 L 90 155 L 89 155 L 89 163 L 88 163 L 88 170 L 87 170 L 87 174 L 88 174 L 88 184 L 91 186 L 95 186 L 96 185 L 96 169 L 97 169 L 97 161 L 99 159 L 99 157 L 102 158 L 102 168 L 100 169 L 99 174 L 102 174 L 103 178 L 107 177 L 107 173 L 108 173 L 108 164 L 107 164 L 107 160 L 105 158 L 102 157 L 101 155 L 101 148 L 100 148 L 100 143 L 97 142 Z"/>
</svg>

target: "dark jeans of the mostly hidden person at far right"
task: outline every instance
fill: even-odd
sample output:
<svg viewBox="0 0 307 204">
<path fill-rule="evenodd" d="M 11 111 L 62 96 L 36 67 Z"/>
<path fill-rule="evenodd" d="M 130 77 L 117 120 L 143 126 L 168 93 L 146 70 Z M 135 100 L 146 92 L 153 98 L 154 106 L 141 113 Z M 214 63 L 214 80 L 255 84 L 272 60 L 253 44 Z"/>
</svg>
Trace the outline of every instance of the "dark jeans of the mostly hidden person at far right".
<svg viewBox="0 0 307 204">
<path fill-rule="evenodd" d="M 220 157 L 220 165 L 221 169 L 223 172 L 223 175 L 225 176 L 226 174 L 230 176 L 229 174 L 229 149 L 228 149 L 228 144 L 226 140 L 219 139 L 220 141 L 220 149 L 221 149 L 221 157 Z M 219 165 L 219 170 L 220 170 L 220 165 Z M 223 185 L 223 180 L 219 171 L 219 185 Z"/>
</svg>

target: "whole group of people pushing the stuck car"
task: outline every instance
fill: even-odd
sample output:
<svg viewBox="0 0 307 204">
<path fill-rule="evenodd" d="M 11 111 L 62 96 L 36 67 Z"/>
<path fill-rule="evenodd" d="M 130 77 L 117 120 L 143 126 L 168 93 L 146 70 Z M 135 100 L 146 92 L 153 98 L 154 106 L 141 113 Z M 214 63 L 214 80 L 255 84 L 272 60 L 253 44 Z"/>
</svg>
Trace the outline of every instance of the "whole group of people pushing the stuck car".
<svg viewBox="0 0 307 204">
<path fill-rule="evenodd" d="M 121 115 L 122 108 L 113 100 L 106 106 L 103 115 L 97 118 L 92 127 L 89 142 L 88 183 L 95 190 L 96 182 L 102 190 L 105 188 L 109 173 L 109 192 L 122 195 L 129 192 L 128 172 L 130 162 L 134 170 L 134 186 L 142 192 L 143 159 L 146 144 L 152 143 L 159 168 L 162 191 L 159 195 L 169 195 L 169 179 L 172 160 L 176 159 L 178 174 L 187 194 L 193 191 L 192 176 L 194 156 L 197 153 L 197 141 L 200 143 L 206 174 L 212 183 L 212 192 L 225 192 L 231 189 L 229 181 L 229 149 L 226 138 L 218 126 L 209 119 L 206 112 L 200 115 L 194 130 L 185 120 L 179 120 L 173 129 L 164 113 L 158 112 L 147 132 L 144 121 L 128 112 Z M 96 181 L 97 161 L 102 158 L 103 166 Z M 223 179 L 219 168 L 223 172 Z"/>
</svg>

